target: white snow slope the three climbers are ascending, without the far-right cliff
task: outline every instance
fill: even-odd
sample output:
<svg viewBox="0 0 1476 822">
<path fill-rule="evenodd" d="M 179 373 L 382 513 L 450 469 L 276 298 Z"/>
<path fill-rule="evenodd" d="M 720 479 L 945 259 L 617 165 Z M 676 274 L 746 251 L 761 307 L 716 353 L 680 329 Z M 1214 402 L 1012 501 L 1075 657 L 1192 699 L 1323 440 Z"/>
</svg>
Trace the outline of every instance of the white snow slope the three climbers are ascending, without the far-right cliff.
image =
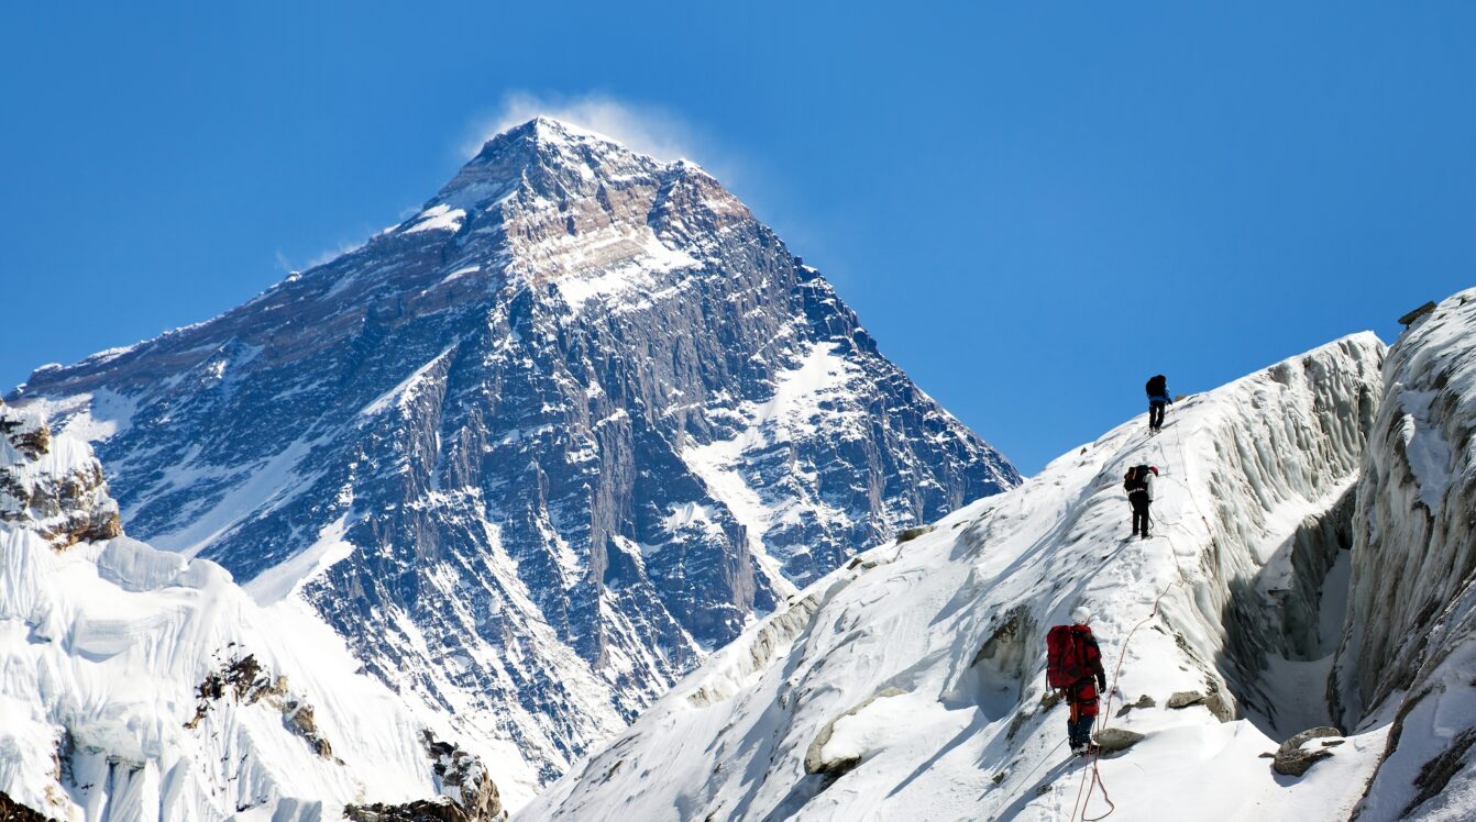
<svg viewBox="0 0 1476 822">
<path fill-rule="evenodd" d="M 856 556 L 517 819 L 1079 819 L 1107 794 L 1114 822 L 1345 819 L 1386 728 L 1308 742 L 1331 756 L 1300 778 L 1261 754 L 1328 722 L 1383 356 L 1364 334 L 1293 357 Z M 1139 462 L 1163 471 L 1142 542 L 1122 491 Z M 1110 722 L 1144 735 L 1100 761 L 1106 792 L 1042 702 L 1044 635 L 1080 604 L 1120 663 Z"/>
</svg>

